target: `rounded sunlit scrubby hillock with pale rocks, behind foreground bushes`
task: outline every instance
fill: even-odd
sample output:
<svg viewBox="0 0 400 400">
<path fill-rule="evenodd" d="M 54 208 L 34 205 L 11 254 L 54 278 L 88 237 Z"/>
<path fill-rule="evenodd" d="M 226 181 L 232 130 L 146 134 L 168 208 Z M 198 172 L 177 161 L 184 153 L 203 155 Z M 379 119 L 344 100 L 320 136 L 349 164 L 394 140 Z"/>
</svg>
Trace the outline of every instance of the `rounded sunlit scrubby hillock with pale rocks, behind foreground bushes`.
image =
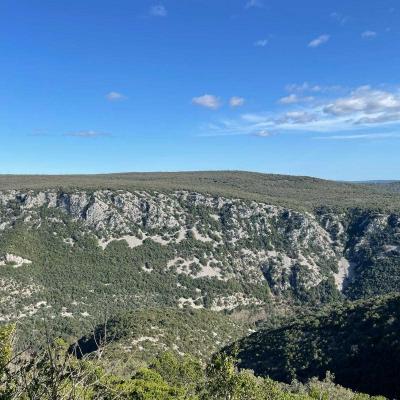
<svg viewBox="0 0 400 400">
<path fill-rule="evenodd" d="M 251 324 L 225 313 L 190 308 L 121 312 L 71 346 L 78 356 L 105 345 L 107 368 L 132 373 L 155 355 L 171 351 L 207 362 L 223 346 L 248 334 Z"/>
</svg>

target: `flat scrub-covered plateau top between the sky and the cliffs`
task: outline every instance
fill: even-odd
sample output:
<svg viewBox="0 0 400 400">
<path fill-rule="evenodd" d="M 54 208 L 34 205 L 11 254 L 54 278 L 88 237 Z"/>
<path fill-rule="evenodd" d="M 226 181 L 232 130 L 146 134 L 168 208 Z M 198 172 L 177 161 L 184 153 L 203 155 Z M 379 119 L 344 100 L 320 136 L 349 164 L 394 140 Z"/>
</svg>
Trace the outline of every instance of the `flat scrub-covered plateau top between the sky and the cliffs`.
<svg viewBox="0 0 400 400">
<path fill-rule="evenodd" d="M 400 209 L 400 195 L 396 190 L 392 190 L 390 185 L 351 184 L 310 177 L 253 172 L 0 176 L 0 190 L 57 187 L 63 190 L 109 188 L 161 192 L 184 189 L 269 204 L 282 204 L 300 209 L 313 209 L 319 206 Z"/>
</svg>

